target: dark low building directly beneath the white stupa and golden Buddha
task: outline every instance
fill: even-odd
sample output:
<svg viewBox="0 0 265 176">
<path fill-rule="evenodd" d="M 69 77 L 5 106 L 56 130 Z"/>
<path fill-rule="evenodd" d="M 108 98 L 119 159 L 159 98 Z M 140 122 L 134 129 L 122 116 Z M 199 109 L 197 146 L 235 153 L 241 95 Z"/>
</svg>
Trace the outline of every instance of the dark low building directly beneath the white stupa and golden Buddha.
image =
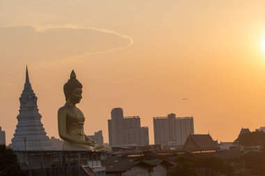
<svg viewBox="0 0 265 176">
<path fill-rule="evenodd" d="M 22 170 L 31 176 L 105 176 L 104 152 L 93 151 L 15 151 Z"/>
</svg>

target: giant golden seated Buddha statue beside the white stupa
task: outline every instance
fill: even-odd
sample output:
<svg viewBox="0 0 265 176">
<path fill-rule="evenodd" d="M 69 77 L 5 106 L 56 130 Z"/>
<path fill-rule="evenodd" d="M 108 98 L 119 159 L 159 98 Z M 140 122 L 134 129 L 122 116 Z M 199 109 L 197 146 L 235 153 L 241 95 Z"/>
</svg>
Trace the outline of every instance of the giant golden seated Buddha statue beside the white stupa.
<svg viewBox="0 0 265 176">
<path fill-rule="evenodd" d="M 110 147 L 97 144 L 84 134 L 84 114 L 75 106 L 82 99 L 82 83 L 75 76 L 74 70 L 70 79 L 63 86 L 66 104 L 58 110 L 59 136 L 63 139 L 63 150 L 105 150 Z"/>
</svg>

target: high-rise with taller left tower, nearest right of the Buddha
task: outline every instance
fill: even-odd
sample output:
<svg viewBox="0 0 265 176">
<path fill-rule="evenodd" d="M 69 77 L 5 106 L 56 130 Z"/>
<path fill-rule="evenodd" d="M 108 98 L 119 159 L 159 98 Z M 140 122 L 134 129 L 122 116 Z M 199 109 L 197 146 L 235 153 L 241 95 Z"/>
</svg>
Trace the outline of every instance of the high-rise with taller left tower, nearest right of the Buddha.
<svg viewBox="0 0 265 176">
<path fill-rule="evenodd" d="M 123 109 L 112 109 L 108 120 L 109 145 L 149 145 L 149 129 L 141 127 L 139 116 L 123 117 Z"/>
</svg>

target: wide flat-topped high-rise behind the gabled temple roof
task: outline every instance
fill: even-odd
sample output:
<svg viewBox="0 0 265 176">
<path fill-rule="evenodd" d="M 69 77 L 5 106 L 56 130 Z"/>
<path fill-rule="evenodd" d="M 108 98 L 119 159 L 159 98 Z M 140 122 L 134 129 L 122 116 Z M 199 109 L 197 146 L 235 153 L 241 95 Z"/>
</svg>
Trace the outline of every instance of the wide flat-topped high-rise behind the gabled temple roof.
<svg viewBox="0 0 265 176">
<path fill-rule="evenodd" d="M 167 117 L 153 118 L 155 144 L 183 145 L 189 134 L 194 134 L 192 117 L 176 118 L 170 113 Z"/>
</svg>

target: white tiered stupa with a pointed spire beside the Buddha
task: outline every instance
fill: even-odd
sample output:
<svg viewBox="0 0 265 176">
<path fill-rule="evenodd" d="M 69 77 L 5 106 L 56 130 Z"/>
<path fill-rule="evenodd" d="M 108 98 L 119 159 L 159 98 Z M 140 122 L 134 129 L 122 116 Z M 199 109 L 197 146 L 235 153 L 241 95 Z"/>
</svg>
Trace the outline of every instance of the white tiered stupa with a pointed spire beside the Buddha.
<svg viewBox="0 0 265 176">
<path fill-rule="evenodd" d="M 46 135 L 38 113 L 37 97 L 29 82 L 28 69 L 24 90 L 20 97 L 20 114 L 17 115 L 17 128 L 10 147 L 14 150 L 49 150 L 50 138 Z"/>
</svg>

